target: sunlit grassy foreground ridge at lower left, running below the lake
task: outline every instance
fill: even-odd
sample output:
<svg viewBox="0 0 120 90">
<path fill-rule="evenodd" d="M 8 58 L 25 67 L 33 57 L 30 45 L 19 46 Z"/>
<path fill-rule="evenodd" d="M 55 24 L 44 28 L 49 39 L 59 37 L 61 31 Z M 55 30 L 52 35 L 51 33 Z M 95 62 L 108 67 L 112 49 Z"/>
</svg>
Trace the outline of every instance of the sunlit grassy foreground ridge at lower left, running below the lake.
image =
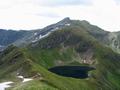
<svg viewBox="0 0 120 90">
<path fill-rule="evenodd" d="M 20 53 L 20 55 L 16 55 L 16 53 Z M 26 89 L 29 89 L 29 90 L 30 89 L 31 90 L 38 90 L 38 89 L 40 89 L 40 90 L 41 89 L 43 89 L 43 90 L 49 90 L 49 89 L 51 89 L 51 90 L 54 90 L 54 89 L 74 90 L 74 89 L 78 89 L 81 87 L 85 87 L 84 83 L 86 81 L 57 76 L 57 75 L 47 71 L 45 68 L 41 67 L 39 64 L 29 61 L 30 59 L 28 59 L 26 57 L 26 55 L 23 55 L 23 54 L 24 53 L 21 50 L 19 50 L 16 47 L 13 47 L 13 46 L 11 46 L 7 50 L 5 50 L 4 54 L 3 53 L 1 54 L 1 58 L 2 58 L 1 62 L 3 60 L 7 61 L 7 63 L 6 62 L 1 63 L 3 66 L 3 67 L 1 66 L 1 68 L 0 68 L 1 78 L 4 78 L 4 79 L 6 78 L 9 80 L 15 81 L 15 76 L 17 73 L 16 71 L 18 71 L 19 68 L 22 67 L 23 71 L 20 72 L 21 74 L 26 74 L 24 72 L 27 72 L 28 76 L 31 76 L 31 73 L 28 73 L 28 71 L 30 69 L 30 72 L 34 72 L 34 73 L 39 72 L 42 75 L 43 79 L 42 80 L 39 80 L 39 79 L 34 80 L 33 82 L 25 83 L 25 84 L 18 83 L 15 86 L 15 88 L 12 88 L 12 90 L 21 90 L 21 89 L 22 90 L 26 90 Z M 2 57 L 2 55 L 3 55 L 3 57 Z M 6 56 L 4 57 L 4 55 L 6 55 Z M 16 57 L 14 57 L 14 55 L 16 55 Z M 17 60 L 16 63 L 13 60 Z M 25 60 L 25 63 L 24 63 L 24 60 Z M 12 61 L 15 64 L 11 63 Z M 8 66 L 8 67 L 6 68 L 6 66 Z M 12 76 L 12 78 L 10 76 Z M 82 81 L 84 82 L 84 83 L 82 83 L 84 86 L 81 85 L 81 83 L 80 83 Z M 74 83 L 74 82 L 76 82 L 76 83 Z M 34 86 L 31 86 L 31 84 Z"/>
</svg>

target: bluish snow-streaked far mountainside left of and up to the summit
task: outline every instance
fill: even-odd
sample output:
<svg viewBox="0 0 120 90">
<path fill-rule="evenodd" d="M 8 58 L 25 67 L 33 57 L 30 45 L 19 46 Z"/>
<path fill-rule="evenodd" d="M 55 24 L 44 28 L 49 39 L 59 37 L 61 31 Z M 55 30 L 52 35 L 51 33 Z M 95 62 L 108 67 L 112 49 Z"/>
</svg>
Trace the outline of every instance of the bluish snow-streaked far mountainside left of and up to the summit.
<svg viewBox="0 0 120 90">
<path fill-rule="evenodd" d="M 24 46 L 26 44 L 28 45 L 31 42 L 36 42 L 41 38 L 49 35 L 49 33 L 51 33 L 52 31 L 67 26 L 69 21 L 70 21 L 69 18 L 65 18 L 62 21 L 53 25 L 49 25 L 43 29 L 36 29 L 31 31 L 26 30 L 15 31 L 0 29 L 0 45 L 2 46 L 8 46 L 10 44 L 14 44 L 16 46 L 21 45 Z"/>
</svg>

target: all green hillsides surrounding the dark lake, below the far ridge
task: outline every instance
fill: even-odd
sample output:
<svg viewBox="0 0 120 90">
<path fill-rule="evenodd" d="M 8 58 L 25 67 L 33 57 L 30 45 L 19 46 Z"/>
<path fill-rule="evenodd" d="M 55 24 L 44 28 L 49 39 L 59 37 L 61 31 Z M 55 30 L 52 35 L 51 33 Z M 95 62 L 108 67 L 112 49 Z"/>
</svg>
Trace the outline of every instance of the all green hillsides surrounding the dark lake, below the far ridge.
<svg viewBox="0 0 120 90">
<path fill-rule="evenodd" d="M 17 73 L 32 78 L 37 75 L 12 90 L 120 89 L 120 55 L 99 43 L 84 27 L 66 26 L 25 48 L 8 47 L 0 58 L 2 78 L 15 79 Z M 55 66 L 91 66 L 95 70 L 89 72 L 89 78 L 76 79 L 48 71 Z"/>
</svg>

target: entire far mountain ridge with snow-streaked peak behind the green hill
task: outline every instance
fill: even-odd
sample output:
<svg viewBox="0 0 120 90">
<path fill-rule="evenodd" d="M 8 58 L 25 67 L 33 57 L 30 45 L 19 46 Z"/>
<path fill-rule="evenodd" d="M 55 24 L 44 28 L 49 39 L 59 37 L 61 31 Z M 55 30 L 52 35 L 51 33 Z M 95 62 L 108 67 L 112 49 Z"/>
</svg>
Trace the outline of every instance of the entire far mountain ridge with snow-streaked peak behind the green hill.
<svg viewBox="0 0 120 90">
<path fill-rule="evenodd" d="M 104 31 L 98 26 L 91 25 L 85 20 L 71 20 L 70 18 L 65 18 L 58 23 L 49 25 L 43 29 L 31 31 L 0 30 L 0 45 L 8 46 L 9 44 L 13 43 L 16 46 L 26 46 L 31 42 L 37 42 L 38 40 L 48 36 L 53 31 L 62 29 L 67 26 L 79 26 L 81 28 L 84 28 L 85 31 L 96 38 L 99 42 L 111 47 L 114 51 L 117 51 L 118 53 L 120 52 L 119 32 Z M 0 47 L 0 49 L 3 48 Z"/>
</svg>

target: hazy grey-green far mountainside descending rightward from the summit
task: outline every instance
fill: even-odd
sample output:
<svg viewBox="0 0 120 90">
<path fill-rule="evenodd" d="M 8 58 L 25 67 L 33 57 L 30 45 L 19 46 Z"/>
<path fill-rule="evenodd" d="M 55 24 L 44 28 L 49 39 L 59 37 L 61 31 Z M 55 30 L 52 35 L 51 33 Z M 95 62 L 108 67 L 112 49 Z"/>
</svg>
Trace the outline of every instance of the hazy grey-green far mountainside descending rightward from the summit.
<svg viewBox="0 0 120 90">
<path fill-rule="evenodd" d="M 103 29 L 91 25 L 87 21 L 73 21 L 75 24 L 80 27 L 83 27 L 90 35 L 92 35 L 95 39 L 101 42 L 103 45 L 106 45 L 112 48 L 114 51 L 120 53 L 120 32 L 108 32 Z"/>
</svg>

